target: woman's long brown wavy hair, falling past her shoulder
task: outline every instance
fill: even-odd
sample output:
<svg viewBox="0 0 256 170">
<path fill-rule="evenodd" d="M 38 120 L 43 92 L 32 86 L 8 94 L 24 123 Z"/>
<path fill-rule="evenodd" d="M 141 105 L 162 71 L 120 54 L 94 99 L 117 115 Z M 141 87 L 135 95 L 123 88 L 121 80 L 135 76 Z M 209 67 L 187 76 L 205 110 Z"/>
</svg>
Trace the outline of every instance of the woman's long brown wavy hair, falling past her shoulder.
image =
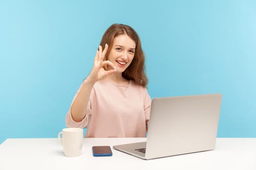
<svg viewBox="0 0 256 170">
<path fill-rule="evenodd" d="M 148 84 L 148 78 L 145 74 L 145 55 L 141 48 L 139 36 L 132 27 L 124 24 L 113 24 L 106 30 L 102 36 L 100 45 L 104 48 L 107 43 L 109 49 L 103 60 L 107 60 L 110 49 L 113 48 L 114 38 L 122 34 L 127 34 L 136 43 L 133 61 L 130 66 L 122 72 L 122 76 L 127 80 L 133 80 L 138 85 L 146 86 Z"/>
</svg>

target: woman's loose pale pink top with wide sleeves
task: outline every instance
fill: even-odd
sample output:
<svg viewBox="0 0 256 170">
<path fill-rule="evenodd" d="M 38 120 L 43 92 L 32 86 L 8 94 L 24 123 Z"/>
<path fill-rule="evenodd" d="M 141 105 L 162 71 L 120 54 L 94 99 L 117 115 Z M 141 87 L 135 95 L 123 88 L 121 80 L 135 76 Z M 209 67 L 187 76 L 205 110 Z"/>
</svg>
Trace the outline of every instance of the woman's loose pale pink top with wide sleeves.
<svg viewBox="0 0 256 170">
<path fill-rule="evenodd" d="M 93 86 L 85 118 L 75 122 L 69 109 L 66 125 L 87 127 L 85 137 L 146 137 L 150 107 L 151 98 L 145 87 L 133 81 L 116 85 L 100 80 Z"/>
</svg>

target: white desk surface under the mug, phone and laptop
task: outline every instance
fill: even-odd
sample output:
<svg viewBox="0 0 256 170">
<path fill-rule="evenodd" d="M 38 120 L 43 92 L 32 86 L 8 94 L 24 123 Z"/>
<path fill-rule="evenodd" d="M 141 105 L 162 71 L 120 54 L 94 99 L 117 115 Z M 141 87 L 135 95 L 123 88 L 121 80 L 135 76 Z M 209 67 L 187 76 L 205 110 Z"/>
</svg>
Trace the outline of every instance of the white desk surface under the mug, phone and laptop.
<svg viewBox="0 0 256 170">
<path fill-rule="evenodd" d="M 214 151 L 143 160 L 113 150 L 93 157 L 92 146 L 146 138 L 84 138 L 79 157 L 65 157 L 58 138 L 7 139 L 0 145 L 0 170 L 256 170 L 256 138 L 217 138 Z"/>
</svg>

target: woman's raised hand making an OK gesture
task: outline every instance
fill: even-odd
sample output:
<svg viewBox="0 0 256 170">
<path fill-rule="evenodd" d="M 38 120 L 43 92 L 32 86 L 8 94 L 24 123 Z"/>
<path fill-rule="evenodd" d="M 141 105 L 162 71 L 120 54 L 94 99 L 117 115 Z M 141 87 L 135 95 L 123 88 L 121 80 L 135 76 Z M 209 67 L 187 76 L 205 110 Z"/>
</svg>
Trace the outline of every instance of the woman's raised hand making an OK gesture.
<svg viewBox="0 0 256 170">
<path fill-rule="evenodd" d="M 90 79 L 90 81 L 92 82 L 97 82 L 98 80 L 104 78 L 105 76 L 112 74 L 114 72 L 116 72 L 117 70 L 114 67 L 114 64 L 111 63 L 110 61 L 106 60 L 103 61 L 106 52 L 108 50 L 108 45 L 105 45 L 104 50 L 102 51 L 102 47 L 99 46 L 98 47 L 98 51 L 95 55 L 95 59 L 94 59 L 94 66 L 89 74 L 89 76 L 87 78 Z M 105 70 L 103 67 L 104 66 L 111 66 L 113 69 L 110 70 Z"/>
</svg>

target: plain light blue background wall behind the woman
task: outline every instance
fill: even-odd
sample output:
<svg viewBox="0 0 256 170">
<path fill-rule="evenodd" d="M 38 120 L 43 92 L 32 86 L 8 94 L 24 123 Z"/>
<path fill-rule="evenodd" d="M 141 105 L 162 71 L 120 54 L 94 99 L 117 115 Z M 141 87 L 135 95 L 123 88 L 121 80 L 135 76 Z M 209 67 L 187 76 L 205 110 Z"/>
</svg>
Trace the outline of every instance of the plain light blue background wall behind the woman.
<svg viewBox="0 0 256 170">
<path fill-rule="evenodd" d="M 218 137 L 256 137 L 255 0 L 1 0 L 0 143 L 57 137 L 105 30 L 132 26 L 153 97 L 222 93 Z"/>
</svg>

